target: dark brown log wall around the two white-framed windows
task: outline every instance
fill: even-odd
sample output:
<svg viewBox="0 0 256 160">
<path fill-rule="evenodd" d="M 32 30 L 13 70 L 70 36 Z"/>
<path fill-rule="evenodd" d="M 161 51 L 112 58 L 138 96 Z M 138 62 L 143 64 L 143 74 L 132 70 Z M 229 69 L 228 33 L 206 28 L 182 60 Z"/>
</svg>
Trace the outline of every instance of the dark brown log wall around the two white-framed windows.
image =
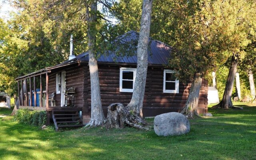
<svg viewBox="0 0 256 160">
<path fill-rule="evenodd" d="M 119 92 L 119 74 L 121 66 L 99 66 L 100 91 L 102 107 L 106 114 L 106 107 L 112 103 L 121 102 L 128 104 L 132 93 Z M 128 67 L 128 66 L 122 66 Z M 87 78 L 86 78 L 87 76 Z M 90 106 L 90 76 L 88 68 L 84 67 L 84 95 L 86 106 Z M 143 103 L 144 116 L 156 116 L 166 112 L 179 112 L 185 105 L 190 84 L 180 83 L 179 93 L 163 93 L 163 68 L 148 68 L 146 89 Z M 87 85 L 88 84 L 88 85 Z M 88 86 L 88 87 L 87 87 Z M 200 90 L 198 112 L 206 113 L 208 106 L 208 82 L 203 79 Z M 105 115 L 106 116 L 106 115 Z"/>
</svg>

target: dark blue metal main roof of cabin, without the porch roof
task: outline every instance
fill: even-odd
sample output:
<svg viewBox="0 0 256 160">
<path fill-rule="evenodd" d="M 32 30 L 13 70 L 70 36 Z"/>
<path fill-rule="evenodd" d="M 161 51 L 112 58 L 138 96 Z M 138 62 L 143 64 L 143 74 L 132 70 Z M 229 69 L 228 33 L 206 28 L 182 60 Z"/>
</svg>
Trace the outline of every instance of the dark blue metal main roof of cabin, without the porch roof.
<svg viewBox="0 0 256 160">
<path fill-rule="evenodd" d="M 120 36 L 120 38 L 125 42 L 129 42 L 132 40 L 138 41 L 139 33 L 132 30 L 123 34 L 122 36 Z M 171 51 L 172 48 L 170 46 L 150 38 L 150 49 L 148 50 L 148 64 L 167 65 Z M 74 59 L 89 61 L 88 51 L 79 54 Z M 137 63 L 137 55 L 134 54 L 134 56 L 116 56 L 114 52 L 109 51 L 107 55 L 101 55 L 97 60 L 98 62 Z"/>
</svg>

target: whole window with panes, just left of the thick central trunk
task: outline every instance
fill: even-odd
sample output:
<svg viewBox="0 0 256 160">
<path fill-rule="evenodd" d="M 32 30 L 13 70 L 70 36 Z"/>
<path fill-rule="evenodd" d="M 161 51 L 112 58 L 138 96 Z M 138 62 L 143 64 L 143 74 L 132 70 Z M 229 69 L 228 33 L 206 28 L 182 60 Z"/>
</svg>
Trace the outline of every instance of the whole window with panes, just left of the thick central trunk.
<svg viewBox="0 0 256 160">
<path fill-rule="evenodd" d="M 133 92 L 136 68 L 120 68 L 120 92 Z"/>
</svg>

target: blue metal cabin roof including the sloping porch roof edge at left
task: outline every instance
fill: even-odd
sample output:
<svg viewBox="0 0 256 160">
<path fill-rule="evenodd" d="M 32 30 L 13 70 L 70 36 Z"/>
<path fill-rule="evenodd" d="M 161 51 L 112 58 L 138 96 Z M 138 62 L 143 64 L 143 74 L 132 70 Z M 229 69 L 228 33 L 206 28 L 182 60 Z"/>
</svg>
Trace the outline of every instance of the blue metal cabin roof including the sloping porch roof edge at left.
<svg viewBox="0 0 256 160">
<path fill-rule="evenodd" d="M 129 42 L 131 42 L 131 44 L 132 44 L 132 42 L 134 42 L 134 41 L 138 42 L 139 35 L 140 34 L 138 32 L 131 30 L 129 32 L 126 32 L 125 34 L 122 34 L 118 38 L 116 38 L 116 41 L 121 40 L 122 42 L 126 42 L 128 44 L 129 44 Z M 160 41 L 153 40 L 152 38 L 149 38 L 149 39 L 150 39 L 150 46 L 148 49 L 148 64 L 167 65 L 168 59 L 170 58 L 170 54 L 172 52 L 172 47 L 170 47 Z M 114 51 L 106 51 L 106 55 L 99 56 L 99 58 L 97 60 L 98 60 L 98 62 L 102 62 L 102 63 L 113 62 L 113 63 L 136 64 L 137 63 L 136 53 L 137 52 L 134 51 L 133 56 L 128 56 L 127 54 L 124 54 L 124 56 L 117 56 Z M 36 72 L 27 74 L 25 76 L 18 77 L 15 80 L 20 80 L 22 78 L 24 79 L 26 77 L 33 76 L 33 75 L 36 75 L 41 72 L 50 72 L 50 70 L 52 70 L 54 68 L 59 68 L 59 67 L 67 66 L 70 64 L 75 64 L 75 63 L 78 63 L 79 61 L 85 61 L 85 62 L 89 61 L 88 51 L 77 55 L 76 58 L 74 58 L 72 60 L 66 60 L 60 64 L 57 64 L 56 66 L 47 67 L 47 68 L 38 70 Z"/>
</svg>

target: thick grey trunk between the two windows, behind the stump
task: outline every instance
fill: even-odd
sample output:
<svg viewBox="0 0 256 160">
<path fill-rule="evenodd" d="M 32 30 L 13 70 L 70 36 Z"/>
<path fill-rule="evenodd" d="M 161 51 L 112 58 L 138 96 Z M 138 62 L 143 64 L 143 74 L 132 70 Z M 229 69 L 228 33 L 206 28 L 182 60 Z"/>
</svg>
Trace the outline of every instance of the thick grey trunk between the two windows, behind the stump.
<svg viewBox="0 0 256 160">
<path fill-rule="evenodd" d="M 135 114 L 141 118 L 143 116 L 142 107 L 148 69 L 148 41 L 150 34 L 152 1 L 153 0 L 143 0 L 140 36 L 137 49 L 137 72 L 132 99 L 127 106 L 127 108 L 133 110 Z"/>
</svg>

